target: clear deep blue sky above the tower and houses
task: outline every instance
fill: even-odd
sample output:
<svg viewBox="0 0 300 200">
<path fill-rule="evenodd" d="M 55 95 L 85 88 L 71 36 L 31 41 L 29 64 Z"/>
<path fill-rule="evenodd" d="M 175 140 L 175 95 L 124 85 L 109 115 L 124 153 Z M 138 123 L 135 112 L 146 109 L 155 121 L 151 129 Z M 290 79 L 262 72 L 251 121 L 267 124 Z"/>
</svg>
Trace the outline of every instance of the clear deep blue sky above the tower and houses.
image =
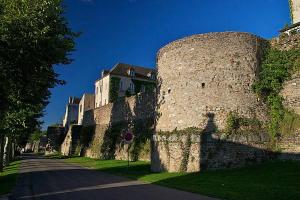
<svg viewBox="0 0 300 200">
<path fill-rule="evenodd" d="M 55 67 L 66 85 L 52 89 L 44 128 L 60 122 L 69 96 L 94 93 L 102 69 L 118 62 L 155 67 L 167 43 L 207 32 L 242 31 L 264 38 L 290 23 L 288 0 L 65 0 L 76 40 L 74 62 Z"/>
</svg>

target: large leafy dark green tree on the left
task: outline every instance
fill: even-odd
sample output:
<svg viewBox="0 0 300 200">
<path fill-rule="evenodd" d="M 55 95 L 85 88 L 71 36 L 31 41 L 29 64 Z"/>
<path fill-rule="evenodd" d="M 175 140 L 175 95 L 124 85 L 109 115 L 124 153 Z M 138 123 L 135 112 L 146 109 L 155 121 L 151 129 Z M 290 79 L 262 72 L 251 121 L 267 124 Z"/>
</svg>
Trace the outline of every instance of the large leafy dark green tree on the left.
<svg viewBox="0 0 300 200">
<path fill-rule="evenodd" d="M 40 124 L 49 89 L 64 84 L 53 66 L 72 61 L 76 36 L 62 0 L 0 0 L 0 145 Z"/>
</svg>

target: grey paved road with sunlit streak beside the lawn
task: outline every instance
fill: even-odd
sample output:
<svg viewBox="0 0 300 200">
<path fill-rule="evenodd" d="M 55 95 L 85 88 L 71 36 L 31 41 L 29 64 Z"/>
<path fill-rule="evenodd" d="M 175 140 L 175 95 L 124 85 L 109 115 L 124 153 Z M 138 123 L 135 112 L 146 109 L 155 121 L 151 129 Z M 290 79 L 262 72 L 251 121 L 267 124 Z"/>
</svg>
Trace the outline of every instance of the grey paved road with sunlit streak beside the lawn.
<svg viewBox="0 0 300 200">
<path fill-rule="evenodd" d="M 215 200 L 34 156 L 22 161 L 10 199 Z"/>
</svg>

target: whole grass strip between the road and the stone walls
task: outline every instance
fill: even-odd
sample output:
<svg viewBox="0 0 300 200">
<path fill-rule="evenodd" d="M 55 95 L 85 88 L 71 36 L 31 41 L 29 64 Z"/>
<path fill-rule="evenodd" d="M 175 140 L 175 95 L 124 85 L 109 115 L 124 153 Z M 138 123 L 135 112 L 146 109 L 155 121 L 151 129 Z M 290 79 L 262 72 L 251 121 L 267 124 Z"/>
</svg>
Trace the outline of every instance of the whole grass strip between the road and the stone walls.
<svg viewBox="0 0 300 200">
<path fill-rule="evenodd" d="M 151 173 L 148 162 L 68 158 L 68 163 L 148 183 L 231 200 L 299 200 L 300 162 L 273 161 L 232 170 Z"/>
</svg>

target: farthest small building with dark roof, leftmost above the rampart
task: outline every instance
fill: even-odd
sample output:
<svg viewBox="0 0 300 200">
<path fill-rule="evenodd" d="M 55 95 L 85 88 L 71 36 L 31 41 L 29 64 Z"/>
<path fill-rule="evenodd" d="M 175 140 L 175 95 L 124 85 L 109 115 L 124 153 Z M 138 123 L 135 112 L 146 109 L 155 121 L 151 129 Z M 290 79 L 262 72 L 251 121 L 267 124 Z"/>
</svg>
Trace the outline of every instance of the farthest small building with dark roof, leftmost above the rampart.
<svg viewBox="0 0 300 200">
<path fill-rule="evenodd" d="M 66 130 L 70 124 L 77 124 L 79 102 L 79 98 L 69 97 L 69 102 L 66 106 L 66 112 L 63 119 L 63 126 L 66 128 Z"/>
</svg>

